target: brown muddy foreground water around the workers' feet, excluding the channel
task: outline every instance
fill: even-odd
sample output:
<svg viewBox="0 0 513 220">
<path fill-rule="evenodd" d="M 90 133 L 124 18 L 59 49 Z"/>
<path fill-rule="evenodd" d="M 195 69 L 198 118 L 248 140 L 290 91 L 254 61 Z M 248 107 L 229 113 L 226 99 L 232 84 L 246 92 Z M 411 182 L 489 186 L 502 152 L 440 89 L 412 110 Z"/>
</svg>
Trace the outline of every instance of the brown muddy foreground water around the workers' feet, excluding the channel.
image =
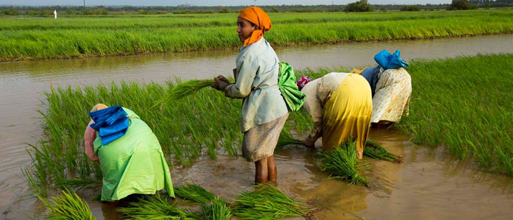
<svg viewBox="0 0 513 220">
<path fill-rule="evenodd" d="M 404 156 L 403 164 L 364 158 L 371 187 L 330 180 L 315 151 L 287 146 L 275 155 L 278 188 L 318 209 L 318 219 L 511 219 L 513 179 L 456 164 L 442 149 L 416 146 L 394 130 L 372 130 L 371 139 Z M 174 185 L 194 182 L 228 201 L 253 183 L 245 159 L 205 158 L 172 170 Z M 99 219 L 120 219 L 108 204 L 91 202 Z M 298 218 L 302 219 L 302 218 Z"/>
</svg>

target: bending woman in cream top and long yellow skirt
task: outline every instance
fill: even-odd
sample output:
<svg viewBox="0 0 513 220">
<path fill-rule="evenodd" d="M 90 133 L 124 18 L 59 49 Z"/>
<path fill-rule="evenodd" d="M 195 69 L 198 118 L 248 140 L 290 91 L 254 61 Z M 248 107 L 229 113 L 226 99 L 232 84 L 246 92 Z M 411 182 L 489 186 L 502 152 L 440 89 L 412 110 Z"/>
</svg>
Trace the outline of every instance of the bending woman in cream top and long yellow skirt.
<svg viewBox="0 0 513 220">
<path fill-rule="evenodd" d="M 372 94 L 367 80 L 358 74 L 329 73 L 305 85 L 303 104 L 312 116 L 311 140 L 322 134 L 323 149 L 345 141 L 357 141 L 363 151 L 372 116 Z"/>
</svg>

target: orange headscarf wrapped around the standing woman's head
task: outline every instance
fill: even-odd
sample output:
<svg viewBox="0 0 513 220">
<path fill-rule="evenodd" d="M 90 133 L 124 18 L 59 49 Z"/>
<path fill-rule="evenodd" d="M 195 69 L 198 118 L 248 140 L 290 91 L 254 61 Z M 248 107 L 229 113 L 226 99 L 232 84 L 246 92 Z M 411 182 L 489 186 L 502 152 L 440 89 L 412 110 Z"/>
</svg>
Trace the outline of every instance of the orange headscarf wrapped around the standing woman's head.
<svg viewBox="0 0 513 220">
<path fill-rule="evenodd" d="M 259 7 L 247 7 L 241 11 L 239 17 L 259 27 L 259 30 L 254 30 L 251 36 L 244 40 L 244 47 L 259 41 L 262 36 L 264 36 L 265 32 L 271 29 L 271 19 L 269 19 L 269 16 Z"/>
</svg>

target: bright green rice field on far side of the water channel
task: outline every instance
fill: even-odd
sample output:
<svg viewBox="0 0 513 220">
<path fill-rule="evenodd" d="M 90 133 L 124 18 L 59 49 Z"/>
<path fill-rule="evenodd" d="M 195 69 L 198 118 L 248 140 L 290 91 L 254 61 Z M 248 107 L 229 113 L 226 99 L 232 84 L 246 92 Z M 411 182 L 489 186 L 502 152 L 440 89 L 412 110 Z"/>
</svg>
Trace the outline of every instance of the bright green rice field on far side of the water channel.
<svg viewBox="0 0 513 220">
<path fill-rule="evenodd" d="M 270 13 L 266 39 L 291 45 L 513 32 L 509 9 Z M 0 60 L 235 49 L 236 14 L 2 17 Z"/>
</svg>

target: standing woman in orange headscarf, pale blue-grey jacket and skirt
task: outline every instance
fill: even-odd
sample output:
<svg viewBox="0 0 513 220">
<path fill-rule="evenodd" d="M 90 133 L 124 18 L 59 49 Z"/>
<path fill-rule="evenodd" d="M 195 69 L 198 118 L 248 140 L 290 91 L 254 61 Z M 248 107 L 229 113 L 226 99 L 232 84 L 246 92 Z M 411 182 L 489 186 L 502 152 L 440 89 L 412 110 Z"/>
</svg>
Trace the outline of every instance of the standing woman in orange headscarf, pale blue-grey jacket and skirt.
<svg viewBox="0 0 513 220">
<path fill-rule="evenodd" d="M 288 109 L 278 88 L 278 56 L 263 37 L 271 20 L 259 7 L 248 7 L 239 14 L 237 25 L 244 46 L 235 58 L 235 83 L 218 76 L 213 87 L 226 97 L 243 99 L 242 155 L 255 163 L 255 183 L 276 181 L 273 152 Z"/>
</svg>

